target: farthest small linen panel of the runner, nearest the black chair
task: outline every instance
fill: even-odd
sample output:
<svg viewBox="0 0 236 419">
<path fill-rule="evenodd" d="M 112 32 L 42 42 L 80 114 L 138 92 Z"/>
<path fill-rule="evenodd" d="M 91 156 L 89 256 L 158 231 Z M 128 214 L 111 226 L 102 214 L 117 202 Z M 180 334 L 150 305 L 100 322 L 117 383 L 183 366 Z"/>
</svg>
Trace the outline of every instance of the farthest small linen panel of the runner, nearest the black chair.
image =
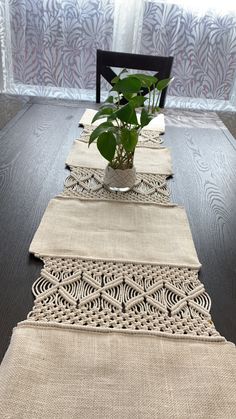
<svg viewBox="0 0 236 419">
<path fill-rule="evenodd" d="M 86 109 L 86 111 L 84 112 L 84 114 L 82 115 L 82 117 L 80 119 L 80 124 L 81 125 L 91 125 L 93 117 L 96 113 L 97 113 L 97 110 Z M 105 122 L 105 121 L 106 121 L 106 119 L 99 119 L 99 120 L 97 120 L 93 123 L 93 126 L 100 125 L 102 122 Z M 153 118 L 152 121 L 149 122 L 149 124 L 146 125 L 143 129 L 145 131 L 150 130 L 150 131 L 158 131 L 159 133 L 164 133 L 165 132 L 164 115 L 162 113 L 160 113 L 155 118 Z"/>
</svg>

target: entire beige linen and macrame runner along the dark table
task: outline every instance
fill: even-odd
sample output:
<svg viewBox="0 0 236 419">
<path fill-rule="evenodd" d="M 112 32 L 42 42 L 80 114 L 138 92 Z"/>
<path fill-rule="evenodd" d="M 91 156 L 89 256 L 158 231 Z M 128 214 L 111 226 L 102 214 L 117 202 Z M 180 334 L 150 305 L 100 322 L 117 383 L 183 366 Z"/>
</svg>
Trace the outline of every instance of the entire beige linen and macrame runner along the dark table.
<svg viewBox="0 0 236 419">
<path fill-rule="evenodd" d="M 30 246 L 44 266 L 0 368 L 0 415 L 235 418 L 235 347 L 211 320 L 185 210 L 169 202 L 169 150 L 145 133 L 136 189 L 109 193 L 88 116 Z"/>
</svg>

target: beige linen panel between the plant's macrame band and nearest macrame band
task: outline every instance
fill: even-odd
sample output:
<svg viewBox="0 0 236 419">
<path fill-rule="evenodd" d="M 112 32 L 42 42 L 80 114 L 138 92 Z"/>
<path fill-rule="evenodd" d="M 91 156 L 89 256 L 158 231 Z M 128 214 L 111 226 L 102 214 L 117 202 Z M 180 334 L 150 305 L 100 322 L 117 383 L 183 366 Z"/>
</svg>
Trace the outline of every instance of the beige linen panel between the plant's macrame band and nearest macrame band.
<svg viewBox="0 0 236 419">
<path fill-rule="evenodd" d="M 60 196 L 50 201 L 30 252 L 200 266 L 183 208 Z"/>
</svg>

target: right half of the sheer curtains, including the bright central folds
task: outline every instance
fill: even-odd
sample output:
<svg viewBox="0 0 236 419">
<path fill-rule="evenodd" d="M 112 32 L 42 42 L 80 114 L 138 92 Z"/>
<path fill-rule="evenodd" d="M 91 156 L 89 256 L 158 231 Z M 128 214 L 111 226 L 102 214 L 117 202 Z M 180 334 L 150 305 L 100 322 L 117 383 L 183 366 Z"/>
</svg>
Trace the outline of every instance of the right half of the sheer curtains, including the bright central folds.
<svg viewBox="0 0 236 419">
<path fill-rule="evenodd" d="M 234 1 L 198 0 L 194 5 L 190 0 L 130 0 L 129 4 L 135 16 L 130 24 L 126 0 L 117 0 L 114 24 L 122 30 L 113 49 L 174 56 L 175 79 L 167 105 L 236 109 Z"/>
</svg>

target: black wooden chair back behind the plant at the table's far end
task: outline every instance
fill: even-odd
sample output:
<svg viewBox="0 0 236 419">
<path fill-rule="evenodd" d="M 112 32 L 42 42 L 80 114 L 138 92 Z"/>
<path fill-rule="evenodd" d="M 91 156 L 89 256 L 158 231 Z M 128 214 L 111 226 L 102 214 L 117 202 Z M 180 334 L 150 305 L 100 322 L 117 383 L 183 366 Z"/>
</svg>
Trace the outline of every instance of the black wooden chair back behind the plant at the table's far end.
<svg viewBox="0 0 236 419">
<path fill-rule="evenodd" d="M 117 75 L 111 67 L 129 68 L 134 70 L 155 71 L 154 74 L 159 80 L 170 77 L 173 57 L 157 57 L 154 55 L 129 54 L 126 52 L 112 52 L 97 50 L 97 72 L 96 72 L 96 103 L 100 103 L 101 97 L 101 76 L 110 84 Z M 166 98 L 166 87 L 160 95 L 160 108 L 164 108 Z M 146 95 L 148 90 L 143 91 Z"/>
</svg>

